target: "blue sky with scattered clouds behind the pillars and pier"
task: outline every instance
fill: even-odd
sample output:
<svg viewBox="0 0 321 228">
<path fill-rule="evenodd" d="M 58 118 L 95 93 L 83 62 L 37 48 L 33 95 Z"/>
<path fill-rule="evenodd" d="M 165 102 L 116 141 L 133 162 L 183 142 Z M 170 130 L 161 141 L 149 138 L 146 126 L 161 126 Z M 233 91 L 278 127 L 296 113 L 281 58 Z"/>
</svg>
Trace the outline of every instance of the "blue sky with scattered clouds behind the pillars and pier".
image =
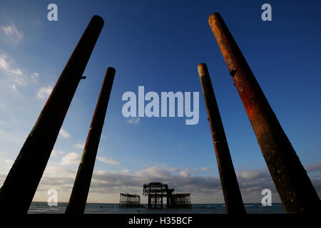
<svg viewBox="0 0 321 228">
<path fill-rule="evenodd" d="M 58 21 L 47 6 L 58 6 Z M 272 6 L 272 21 L 261 6 Z M 198 63 L 206 63 L 245 202 L 268 187 L 279 201 L 250 121 L 210 27 L 218 11 L 267 100 L 321 190 L 320 1 L 1 1 L 0 173 L 3 182 L 51 88 L 91 16 L 105 26 L 63 123 L 35 201 L 56 188 L 68 201 L 93 110 L 108 66 L 115 81 L 98 150 L 89 202 L 118 202 L 143 184 L 168 182 L 193 202 L 223 202 Z M 121 96 L 200 92 L 200 120 L 124 118 Z M 58 181 L 59 180 L 59 181 Z M 145 200 L 145 199 L 143 199 Z"/>
</svg>

